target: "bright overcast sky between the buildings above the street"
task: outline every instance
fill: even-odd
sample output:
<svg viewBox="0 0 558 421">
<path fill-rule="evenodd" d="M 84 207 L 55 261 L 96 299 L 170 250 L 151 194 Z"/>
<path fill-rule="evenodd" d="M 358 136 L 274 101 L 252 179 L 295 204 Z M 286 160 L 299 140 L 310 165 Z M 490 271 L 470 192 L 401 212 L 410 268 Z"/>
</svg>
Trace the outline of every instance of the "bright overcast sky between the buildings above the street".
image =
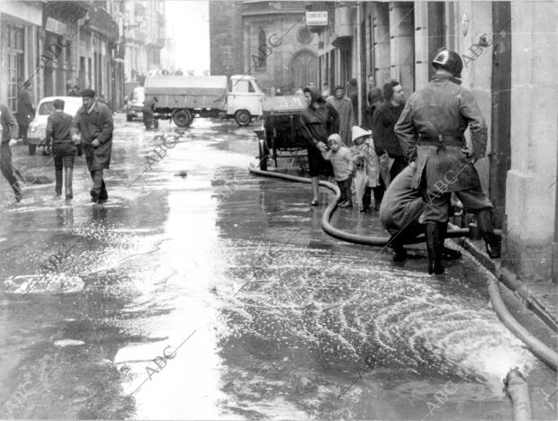
<svg viewBox="0 0 558 421">
<path fill-rule="evenodd" d="M 174 27 L 174 28 L 173 28 Z M 166 31 L 175 32 L 175 63 L 202 75 L 210 67 L 209 2 L 166 0 Z"/>
</svg>

